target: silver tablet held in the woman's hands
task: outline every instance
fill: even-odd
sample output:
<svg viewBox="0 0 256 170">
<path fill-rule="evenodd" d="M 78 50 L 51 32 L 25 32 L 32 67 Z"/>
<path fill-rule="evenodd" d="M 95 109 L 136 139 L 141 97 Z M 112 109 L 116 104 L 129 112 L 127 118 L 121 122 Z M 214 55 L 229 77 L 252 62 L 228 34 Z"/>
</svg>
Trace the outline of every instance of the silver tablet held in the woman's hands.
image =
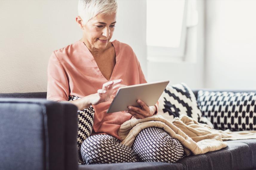
<svg viewBox="0 0 256 170">
<path fill-rule="evenodd" d="M 140 107 L 137 100 L 142 100 L 147 106 L 154 106 L 162 95 L 169 80 L 152 83 L 136 84 L 120 87 L 109 106 L 107 113 L 128 110 L 128 106 Z"/>
</svg>

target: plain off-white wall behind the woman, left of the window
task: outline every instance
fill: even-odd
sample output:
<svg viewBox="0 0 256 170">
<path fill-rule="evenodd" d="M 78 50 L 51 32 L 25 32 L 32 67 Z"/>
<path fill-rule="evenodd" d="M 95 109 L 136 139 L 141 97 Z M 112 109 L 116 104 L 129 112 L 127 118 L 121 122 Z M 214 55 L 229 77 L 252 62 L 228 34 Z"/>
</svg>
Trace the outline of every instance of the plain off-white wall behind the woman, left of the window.
<svg viewBox="0 0 256 170">
<path fill-rule="evenodd" d="M 146 1 L 118 4 L 111 40 L 129 44 L 147 75 Z M 76 15 L 76 0 L 0 1 L 0 93 L 46 92 L 51 52 L 82 37 Z"/>
</svg>

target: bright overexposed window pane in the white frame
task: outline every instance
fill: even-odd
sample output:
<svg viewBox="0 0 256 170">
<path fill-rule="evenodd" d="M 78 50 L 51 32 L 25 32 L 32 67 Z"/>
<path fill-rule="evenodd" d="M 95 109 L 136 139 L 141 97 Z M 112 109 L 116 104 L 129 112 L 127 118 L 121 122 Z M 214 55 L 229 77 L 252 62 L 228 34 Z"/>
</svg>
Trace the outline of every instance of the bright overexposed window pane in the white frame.
<svg viewBox="0 0 256 170">
<path fill-rule="evenodd" d="M 180 46 L 185 0 L 147 0 L 147 45 Z"/>
</svg>

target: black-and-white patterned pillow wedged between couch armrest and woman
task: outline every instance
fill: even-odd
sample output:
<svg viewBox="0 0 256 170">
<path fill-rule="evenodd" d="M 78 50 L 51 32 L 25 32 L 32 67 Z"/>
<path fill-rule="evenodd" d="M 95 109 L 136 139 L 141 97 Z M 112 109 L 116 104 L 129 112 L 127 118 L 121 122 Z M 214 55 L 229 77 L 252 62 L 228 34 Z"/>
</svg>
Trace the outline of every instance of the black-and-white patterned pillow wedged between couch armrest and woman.
<svg viewBox="0 0 256 170">
<path fill-rule="evenodd" d="M 81 97 L 69 96 L 68 101 L 81 99 Z M 81 157 L 81 145 L 83 141 L 91 135 L 93 128 L 94 109 L 92 106 L 84 110 L 77 110 L 78 114 L 78 135 L 77 135 L 77 149 L 79 153 L 79 164 L 83 164 Z"/>
</svg>

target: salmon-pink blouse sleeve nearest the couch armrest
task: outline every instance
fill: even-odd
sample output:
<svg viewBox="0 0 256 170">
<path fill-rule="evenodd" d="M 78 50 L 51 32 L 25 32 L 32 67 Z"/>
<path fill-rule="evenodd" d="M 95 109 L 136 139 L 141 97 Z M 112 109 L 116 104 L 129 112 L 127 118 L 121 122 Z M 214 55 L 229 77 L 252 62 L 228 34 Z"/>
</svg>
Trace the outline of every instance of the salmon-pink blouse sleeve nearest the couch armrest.
<svg viewBox="0 0 256 170">
<path fill-rule="evenodd" d="M 68 77 L 63 66 L 53 52 L 47 67 L 47 100 L 68 101 Z"/>
</svg>

